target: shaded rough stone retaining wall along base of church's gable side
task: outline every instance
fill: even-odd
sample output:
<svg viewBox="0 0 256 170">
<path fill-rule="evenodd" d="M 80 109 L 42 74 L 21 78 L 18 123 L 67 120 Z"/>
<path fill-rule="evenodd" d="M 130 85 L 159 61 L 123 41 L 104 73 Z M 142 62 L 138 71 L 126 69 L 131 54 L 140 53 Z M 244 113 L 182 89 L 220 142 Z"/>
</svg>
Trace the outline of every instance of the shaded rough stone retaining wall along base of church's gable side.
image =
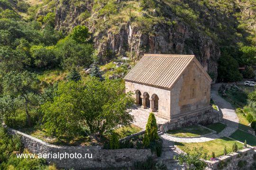
<svg viewBox="0 0 256 170">
<path fill-rule="evenodd" d="M 206 110 L 195 113 L 187 113 L 181 116 L 172 118 L 169 122 L 160 126 L 160 130 L 165 133 L 168 130 L 178 129 L 189 125 L 208 125 L 221 122 L 223 114 L 221 111 L 216 111 L 212 107 Z"/>
</svg>

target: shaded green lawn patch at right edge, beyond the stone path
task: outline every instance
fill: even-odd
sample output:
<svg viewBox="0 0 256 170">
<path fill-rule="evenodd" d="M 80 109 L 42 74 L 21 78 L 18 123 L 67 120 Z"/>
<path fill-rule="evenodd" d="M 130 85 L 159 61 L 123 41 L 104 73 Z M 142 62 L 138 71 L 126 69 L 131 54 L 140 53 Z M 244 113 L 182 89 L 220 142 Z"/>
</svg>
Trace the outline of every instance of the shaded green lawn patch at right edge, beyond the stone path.
<svg viewBox="0 0 256 170">
<path fill-rule="evenodd" d="M 248 134 L 238 129 L 234 134 L 231 134 L 230 137 L 240 142 L 245 142 L 246 140 L 247 144 L 256 147 L 256 136 L 253 136 L 252 134 Z"/>
</svg>

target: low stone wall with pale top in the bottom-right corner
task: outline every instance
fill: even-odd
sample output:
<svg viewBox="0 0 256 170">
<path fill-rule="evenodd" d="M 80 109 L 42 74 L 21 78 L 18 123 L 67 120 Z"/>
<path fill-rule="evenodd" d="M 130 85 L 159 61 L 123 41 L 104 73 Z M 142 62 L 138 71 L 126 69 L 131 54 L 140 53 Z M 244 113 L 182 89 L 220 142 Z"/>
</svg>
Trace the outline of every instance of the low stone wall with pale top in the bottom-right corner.
<svg viewBox="0 0 256 170">
<path fill-rule="evenodd" d="M 218 158 L 217 161 L 206 161 L 208 170 L 250 170 L 254 162 L 254 148 L 246 148 L 227 156 Z"/>
</svg>

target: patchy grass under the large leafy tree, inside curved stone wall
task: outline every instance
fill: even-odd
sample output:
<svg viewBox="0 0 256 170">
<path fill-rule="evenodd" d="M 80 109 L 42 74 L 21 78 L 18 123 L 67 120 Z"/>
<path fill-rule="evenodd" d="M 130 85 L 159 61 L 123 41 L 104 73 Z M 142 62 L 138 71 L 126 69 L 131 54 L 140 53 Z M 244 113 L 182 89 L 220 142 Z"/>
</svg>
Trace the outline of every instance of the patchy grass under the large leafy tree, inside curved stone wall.
<svg viewBox="0 0 256 170">
<path fill-rule="evenodd" d="M 140 127 L 137 127 L 136 125 L 131 125 L 131 126 L 120 127 L 118 129 L 115 129 L 114 132 L 117 133 L 119 138 L 123 138 L 130 134 L 135 134 L 141 130 L 142 129 Z M 71 137 L 67 137 L 63 135 L 58 138 L 50 137 L 50 136 L 47 136 L 43 130 L 40 130 L 37 128 L 22 128 L 22 129 L 19 129 L 19 131 L 25 134 L 31 135 L 33 137 L 36 137 L 37 139 L 40 139 L 46 143 L 51 143 L 55 145 L 65 145 L 65 146 L 101 145 L 110 138 L 110 135 L 106 134 L 102 137 L 102 140 L 99 142 L 96 139 L 90 138 L 89 136 L 82 136 L 82 135 L 75 135 Z"/>
</svg>

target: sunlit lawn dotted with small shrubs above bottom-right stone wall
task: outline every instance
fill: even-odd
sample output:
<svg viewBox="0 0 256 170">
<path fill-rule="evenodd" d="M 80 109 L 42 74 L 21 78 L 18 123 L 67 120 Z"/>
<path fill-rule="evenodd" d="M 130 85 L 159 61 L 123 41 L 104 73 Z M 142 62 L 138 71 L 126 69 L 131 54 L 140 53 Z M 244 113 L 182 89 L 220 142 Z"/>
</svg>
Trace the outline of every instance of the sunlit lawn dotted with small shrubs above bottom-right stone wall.
<svg viewBox="0 0 256 170">
<path fill-rule="evenodd" d="M 192 149 L 193 147 L 203 147 L 203 152 L 207 152 L 207 160 L 211 158 L 211 153 L 214 152 L 215 156 L 221 156 L 224 154 L 224 147 L 226 145 L 227 151 L 232 152 L 232 145 L 235 143 L 234 140 L 228 137 L 222 137 L 208 142 L 201 143 L 179 143 L 175 142 L 178 148 L 186 152 L 187 148 Z M 236 142 L 239 149 L 243 148 L 243 144 Z"/>
</svg>

